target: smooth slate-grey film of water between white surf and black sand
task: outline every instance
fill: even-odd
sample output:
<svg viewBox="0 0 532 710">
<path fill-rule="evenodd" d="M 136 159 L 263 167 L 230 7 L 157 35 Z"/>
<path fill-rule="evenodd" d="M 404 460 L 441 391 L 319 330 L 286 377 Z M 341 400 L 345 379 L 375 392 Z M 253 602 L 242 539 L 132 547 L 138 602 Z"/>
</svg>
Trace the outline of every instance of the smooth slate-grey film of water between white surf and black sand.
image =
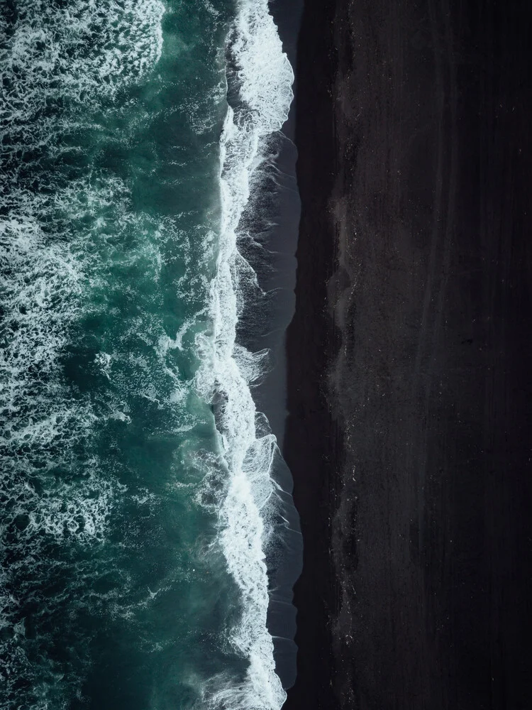
<svg viewBox="0 0 532 710">
<path fill-rule="evenodd" d="M 291 0 L 289 5 L 279 2 L 270 4 L 270 14 L 277 26 L 283 51 L 293 68 L 301 6 L 302 0 Z M 250 211 L 253 228 L 257 229 L 263 246 L 245 256 L 249 258 L 260 287 L 267 296 L 248 303 L 238 326 L 238 342 L 245 344 L 250 351 L 267 349 L 271 355 L 270 368 L 258 383 L 250 387 L 250 391 L 257 412 L 267 417 L 279 447 L 272 466 L 272 479 L 282 490 L 275 493 L 275 512 L 273 518 L 267 520 L 267 525 L 273 525 L 277 530 L 266 550 L 270 594 L 267 629 L 274 644 L 275 672 L 284 689 L 294 684 L 296 675 L 296 610 L 292 603 L 292 587 L 301 569 L 299 515 L 292 501 L 292 475 L 281 452 L 287 415 L 284 341 L 294 314 L 294 252 L 300 213 L 295 171 L 297 151 L 292 140 L 294 110 L 292 101 L 287 121 L 275 139 L 277 158 L 267 168 L 265 185 L 255 204 L 258 212 L 254 213 L 253 202 Z M 267 324 L 266 332 L 264 324 Z"/>
</svg>

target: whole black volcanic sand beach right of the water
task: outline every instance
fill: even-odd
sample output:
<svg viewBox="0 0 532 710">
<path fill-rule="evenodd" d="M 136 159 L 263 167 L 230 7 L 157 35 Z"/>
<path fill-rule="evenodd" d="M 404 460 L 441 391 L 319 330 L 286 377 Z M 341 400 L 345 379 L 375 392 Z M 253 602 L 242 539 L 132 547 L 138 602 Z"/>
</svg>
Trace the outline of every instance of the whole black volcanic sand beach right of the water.
<svg viewBox="0 0 532 710">
<path fill-rule="evenodd" d="M 306 0 L 287 710 L 532 708 L 532 22 Z"/>
</svg>

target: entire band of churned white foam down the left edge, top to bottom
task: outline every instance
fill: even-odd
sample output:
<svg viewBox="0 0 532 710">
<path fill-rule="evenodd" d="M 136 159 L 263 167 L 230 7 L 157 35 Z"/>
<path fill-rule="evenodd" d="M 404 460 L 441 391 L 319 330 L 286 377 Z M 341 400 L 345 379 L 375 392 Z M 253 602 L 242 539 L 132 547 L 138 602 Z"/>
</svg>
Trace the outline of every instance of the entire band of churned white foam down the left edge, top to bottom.
<svg viewBox="0 0 532 710">
<path fill-rule="evenodd" d="M 68 540 L 100 545 L 124 493 L 110 472 L 102 471 L 90 445 L 100 413 L 89 396 L 70 386 L 62 359 L 87 303 L 105 287 L 98 263 L 98 247 L 106 256 L 101 214 L 109 213 L 111 225 L 120 223 L 116 217 L 127 190 L 109 175 L 98 180 L 94 172 L 62 180 L 61 165 L 51 163 L 81 150 L 65 141 L 72 131 L 104 131 L 101 116 L 120 109 L 119 89 L 153 69 L 162 50 L 163 11 L 160 0 L 18 0 L 16 14 L 0 11 L 3 710 L 62 707 L 62 692 L 79 690 L 74 673 L 56 682 L 45 638 L 39 639 L 43 652 L 33 667 L 21 608 L 31 601 L 38 613 L 48 608 L 53 616 L 68 594 L 81 603 L 92 584 L 90 556 L 77 567 L 67 559 L 67 549 L 62 561 L 47 550 L 68 548 Z M 94 244 L 94 234 L 101 244 Z M 94 368 L 107 378 L 112 366 L 106 351 L 96 356 Z M 72 589 L 56 587 L 43 596 L 42 589 L 48 584 L 51 590 L 61 574 L 71 574 Z M 33 687 L 31 699 L 21 682 Z"/>
</svg>

